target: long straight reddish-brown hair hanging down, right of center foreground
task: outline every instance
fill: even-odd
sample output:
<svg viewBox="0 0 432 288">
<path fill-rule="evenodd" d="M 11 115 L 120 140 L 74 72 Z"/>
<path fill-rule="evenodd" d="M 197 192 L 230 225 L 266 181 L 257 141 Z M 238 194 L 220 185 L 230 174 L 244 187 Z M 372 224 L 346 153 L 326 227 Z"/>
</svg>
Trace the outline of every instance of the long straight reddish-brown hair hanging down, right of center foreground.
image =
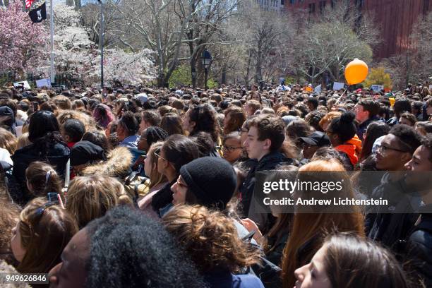
<svg viewBox="0 0 432 288">
<path fill-rule="evenodd" d="M 340 178 L 348 188 L 342 189 L 347 198 L 354 198 L 352 188 L 349 188 L 349 177 L 340 162 L 335 160 L 317 160 L 299 169 L 299 172 L 338 172 Z M 341 196 L 342 197 L 342 196 Z M 307 197 L 306 197 L 307 198 Z M 282 256 L 283 287 L 292 288 L 295 283 L 294 270 L 309 263 L 313 255 L 323 244 L 327 232 L 354 232 L 364 236 L 364 218 L 359 209 L 354 208 L 351 213 L 299 213 L 294 215 L 292 230 Z M 311 249 L 299 255 L 299 250 L 307 242 L 311 242 Z M 301 257 L 301 258 L 300 258 Z"/>
</svg>

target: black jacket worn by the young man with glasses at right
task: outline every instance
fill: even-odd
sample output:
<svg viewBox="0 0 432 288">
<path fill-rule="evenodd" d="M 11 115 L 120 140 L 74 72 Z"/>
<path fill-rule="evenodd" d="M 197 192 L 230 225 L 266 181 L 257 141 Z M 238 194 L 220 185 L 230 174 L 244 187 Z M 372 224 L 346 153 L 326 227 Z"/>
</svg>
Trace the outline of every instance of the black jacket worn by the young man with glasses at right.
<svg viewBox="0 0 432 288">
<path fill-rule="evenodd" d="M 404 241 L 409 236 L 409 231 L 419 217 L 416 211 L 419 210 L 421 199 L 415 196 L 404 179 L 390 181 L 389 175 L 384 174 L 380 186 L 371 197 L 388 200 L 389 205 L 373 207 L 375 210 L 366 215 L 365 226 L 370 239 L 392 248 L 397 241 Z"/>
</svg>

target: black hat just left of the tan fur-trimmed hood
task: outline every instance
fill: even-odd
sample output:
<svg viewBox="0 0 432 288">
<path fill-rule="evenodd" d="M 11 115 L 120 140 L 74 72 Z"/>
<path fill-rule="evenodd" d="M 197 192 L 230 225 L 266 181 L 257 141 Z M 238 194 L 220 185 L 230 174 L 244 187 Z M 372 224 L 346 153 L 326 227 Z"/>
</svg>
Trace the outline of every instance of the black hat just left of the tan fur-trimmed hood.
<svg viewBox="0 0 432 288">
<path fill-rule="evenodd" d="M 104 150 L 90 141 L 83 140 L 73 145 L 71 149 L 71 166 L 92 163 L 104 159 Z"/>
</svg>

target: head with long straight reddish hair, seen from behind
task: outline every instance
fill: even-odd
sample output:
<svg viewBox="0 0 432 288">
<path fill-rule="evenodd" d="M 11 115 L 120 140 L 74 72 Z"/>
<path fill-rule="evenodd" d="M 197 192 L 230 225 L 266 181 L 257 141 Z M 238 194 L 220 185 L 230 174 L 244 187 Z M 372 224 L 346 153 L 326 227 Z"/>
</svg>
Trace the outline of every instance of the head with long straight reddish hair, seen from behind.
<svg viewBox="0 0 432 288">
<path fill-rule="evenodd" d="M 354 189 L 351 186 L 349 176 L 345 172 L 344 167 L 337 160 L 316 160 L 305 164 L 299 169 L 299 181 L 344 181 L 340 191 L 329 191 L 321 193 L 321 191 L 304 191 L 298 190 L 294 192 L 294 198 L 311 199 L 311 198 L 326 198 L 326 197 L 341 197 L 354 198 Z M 306 211 L 308 211 L 306 207 Z M 320 210 L 325 210 L 326 207 L 321 206 Z M 336 209 L 335 206 L 329 209 Z M 282 256 L 282 281 L 284 287 L 294 286 L 294 270 L 301 266 L 301 263 L 308 263 L 313 254 L 318 251 L 326 232 L 352 232 L 359 236 L 364 236 L 364 220 L 358 208 L 353 207 L 352 212 L 332 212 L 327 210 L 321 212 L 295 212 L 292 228 L 289 239 L 283 251 Z M 311 241 L 309 248 L 304 253 L 299 253 L 299 250 L 308 241 Z"/>
</svg>

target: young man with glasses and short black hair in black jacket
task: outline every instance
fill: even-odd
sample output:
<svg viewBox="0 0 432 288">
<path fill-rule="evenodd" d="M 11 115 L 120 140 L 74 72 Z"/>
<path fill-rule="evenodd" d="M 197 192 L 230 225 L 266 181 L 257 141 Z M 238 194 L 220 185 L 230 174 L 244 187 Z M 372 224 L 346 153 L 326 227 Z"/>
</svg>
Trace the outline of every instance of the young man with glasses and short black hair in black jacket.
<svg viewBox="0 0 432 288">
<path fill-rule="evenodd" d="M 412 159 L 421 140 L 422 136 L 414 128 L 399 124 L 383 138 L 376 153 L 377 169 L 388 173 L 383 174 L 381 184 L 373 190 L 371 198 L 386 199 L 390 205 L 366 215 L 366 234 L 388 247 L 399 240 L 406 240 L 418 217 L 414 213 L 403 212 L 408 209 L 407 205 L 420 205 L 413 203 L 413 198 L 407 195 L 413 194 L 414 190 L 407 184 L 404 171 L 407 170 L 405 164 Z M 409 209 L 416 208 L 411 206 Z M 396 210 L 400 212 L 395 213 Z"/>
</svg>

